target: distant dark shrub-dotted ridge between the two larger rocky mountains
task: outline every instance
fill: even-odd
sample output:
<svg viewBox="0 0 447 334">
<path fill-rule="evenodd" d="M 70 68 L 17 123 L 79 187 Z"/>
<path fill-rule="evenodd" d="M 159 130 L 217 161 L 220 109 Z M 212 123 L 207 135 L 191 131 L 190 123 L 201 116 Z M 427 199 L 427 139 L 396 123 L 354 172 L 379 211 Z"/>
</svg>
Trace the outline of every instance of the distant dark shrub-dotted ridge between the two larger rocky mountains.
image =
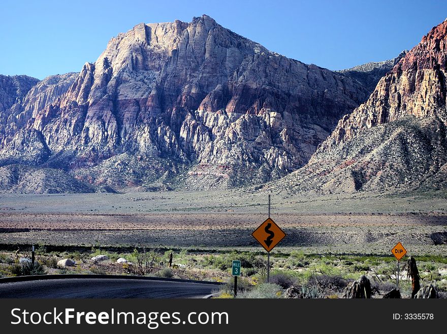
<svg viewBox="0 0 447 334">
<path fill-rule="evenodd" d="M 370 93 L 373 92 L 377 82 L 381 77 L 385 76 L 399 60 L 405 56 L 408 50 L 403 50 L 399 55 L 393 59 L 384 60 L 383 62 L 371 62 L 363 65 L 358 65 L 347 70 L 336 71 L 337 73 L 346 75 L 350 78 L 356 79 L 362 83 Z"/>
</svg>

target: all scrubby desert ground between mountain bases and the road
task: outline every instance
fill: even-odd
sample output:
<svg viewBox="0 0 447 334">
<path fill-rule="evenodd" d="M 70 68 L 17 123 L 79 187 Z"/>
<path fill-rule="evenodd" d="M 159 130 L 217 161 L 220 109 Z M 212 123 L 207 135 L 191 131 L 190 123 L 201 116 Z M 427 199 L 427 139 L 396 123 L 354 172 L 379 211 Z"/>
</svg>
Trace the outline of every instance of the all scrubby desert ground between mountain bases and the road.
<svg viewBox="0 0 447 334">
<path fill-rule="evenodd" d="M 349 282 L 365 275 L 377 290 L 373 297 L 379 298 L 396 288 L 397 263 L 390 247 L 399 240 L 417 260 L 421 286 L 435 281 L 442 296 L 447 293 L 447 216 L 443 213 L 447 212 L 447 193 L 441 193 L 274 196 L 276 203 L 281 202 L 280 213 L 279 207 L 274 207 L 274 220 L 288 236 L 271 252 L 270 283 L 281 291 L 293 286 L 306 297 L 341 297 Z M 38 238 L 41 246 L 36 259 L 48 274 L 152 275 L 233 282 L 232 260 L 240 260 L 239 283 L 247 282 L 247 291 L 266 282 L 267 257 L 250 236 L 262 220 L 260 210 L 266 209 L 261 195 L 245 190 L 97 195 L 83 195 L 82 202 L 73 195 L 42 195 L 29 201 L 26 208 L 23 203 L 29 195 L 20 195 L 20 201 L 12 197 L 8 207 L 13 209 L 0 223 L 3 246 L 8 249 L 0 252 L 0 275 L 22 275 L 19 259 L 30 258 L 30 247 L 23 245 Z M 41 214 L 26 213 L 58 205 L 60 198 L 69 203 L 66 213 L 49 214 L 45 209 Z M 72 214 L 71 205 L 88 213 Z M 90 213 L 98 207 L 105 213 Z M 145 213 L 135 214 L 137 208 Z M 399 215 L 390 214 L 390 208 L 398 208 Z M 228 210 L 232 210 L 230 214 Z M 320 213 L 303 215 L 303 211 Z M 109 260 L 92 263 L 96 255 L 106 255 Z M 57 261 L 67 258 L 76 265 L 57 268 Z M 118 258 L 128 262 L 116 263 Z M 406 298 L 411 295 L 411 282 L 404 262 L 399 289 Z M 219 295 L 232 296 L 231 288 L 224 290 Z"/>
</svg>

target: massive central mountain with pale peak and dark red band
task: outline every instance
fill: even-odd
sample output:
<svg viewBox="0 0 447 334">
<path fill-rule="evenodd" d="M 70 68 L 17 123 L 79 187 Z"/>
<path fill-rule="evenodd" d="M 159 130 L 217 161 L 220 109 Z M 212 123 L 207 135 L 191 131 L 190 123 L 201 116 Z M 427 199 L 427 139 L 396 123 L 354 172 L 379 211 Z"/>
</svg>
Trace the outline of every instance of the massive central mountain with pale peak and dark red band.
<svg viewBox="0 0 447 334">
<path fill-rule="evenodd" d="M 0 166 L 57 169 L 105 191 L 263 183 L 305 165 L 367 96 L 206 15 L 141 23 L 9 109 Z"/>
</svg>

